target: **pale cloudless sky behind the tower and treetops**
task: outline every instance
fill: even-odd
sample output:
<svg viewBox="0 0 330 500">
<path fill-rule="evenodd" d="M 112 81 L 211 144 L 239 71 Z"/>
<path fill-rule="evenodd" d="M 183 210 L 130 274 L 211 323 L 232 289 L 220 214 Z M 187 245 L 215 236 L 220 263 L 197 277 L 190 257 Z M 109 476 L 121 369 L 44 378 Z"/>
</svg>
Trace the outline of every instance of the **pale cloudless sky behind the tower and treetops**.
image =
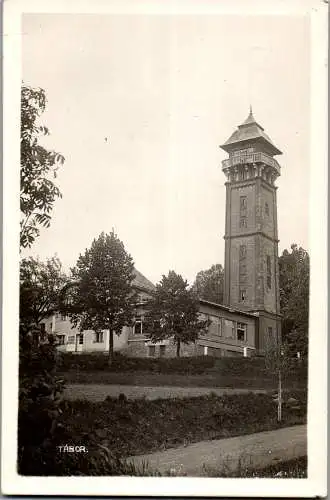
<svg viewBox="0 0 330 500">
<path fill-rule="evenodd" d="M 23 81 L 66 161 L 49 229 L 26 255 L 66 269 L 115 228 L 153 282 L 224 263 L 219 149 L 252 104 L 283 155 L 279 250 L 309 250 L 309 21 L 289 16 L 23 16 Z M 105 138 L 108 141 L 105 141 Z"/>
</svg>

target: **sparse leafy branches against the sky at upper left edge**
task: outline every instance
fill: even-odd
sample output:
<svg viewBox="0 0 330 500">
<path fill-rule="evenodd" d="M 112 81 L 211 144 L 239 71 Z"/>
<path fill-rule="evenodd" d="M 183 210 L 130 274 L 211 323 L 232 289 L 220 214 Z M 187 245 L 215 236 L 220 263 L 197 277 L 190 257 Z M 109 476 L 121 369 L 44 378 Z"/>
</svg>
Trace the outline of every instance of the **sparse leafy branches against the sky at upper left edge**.
<svg viewBox="0 0 330 500">
<path fill-rule="evenodd" d="M 52 179 L 64 163 L 64 157 L 40 145 L 40 137 L 49 135 L 39 124 L 46 109 L 43 89 L 22 86 L 21 89 L 21 232 L 20 246 L 30 247 L 40 234 L 40 227 L 49 227 L 54 202 L 61 197 Z"/>
</svg>

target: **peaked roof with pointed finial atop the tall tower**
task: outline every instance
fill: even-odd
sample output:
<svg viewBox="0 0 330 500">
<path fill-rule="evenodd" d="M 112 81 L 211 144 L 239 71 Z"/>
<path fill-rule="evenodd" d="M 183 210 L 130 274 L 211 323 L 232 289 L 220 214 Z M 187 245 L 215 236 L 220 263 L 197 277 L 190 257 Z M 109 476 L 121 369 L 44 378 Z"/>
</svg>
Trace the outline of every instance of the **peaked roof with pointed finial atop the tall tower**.
<svg viewBox="0 0 330 500">
<path fill-rule="evenodd" d="M 220 147 L 229 153 L 233 149 L 233 146 L 236 146 L 238 143 L 251 140 L 266 143 L 273 155 L 282 154 L 266 134 L 263 127 L 255 120 L 250 106 L 250 113 L 247 119 L 241 125 L 238 125 L 237 130 Z"/>
</svg>

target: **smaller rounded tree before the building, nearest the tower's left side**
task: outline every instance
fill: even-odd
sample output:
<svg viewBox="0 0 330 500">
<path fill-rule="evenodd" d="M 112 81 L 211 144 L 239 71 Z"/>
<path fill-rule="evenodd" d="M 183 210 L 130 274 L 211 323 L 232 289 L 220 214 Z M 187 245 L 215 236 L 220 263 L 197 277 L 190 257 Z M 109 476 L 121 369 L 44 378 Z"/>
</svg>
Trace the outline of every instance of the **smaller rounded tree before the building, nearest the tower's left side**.
<svg viewBox="0 0 330 500">
<path fill-rule="evenodd" d="M 172 338 L 176 355 L 181 344 L 194 342 L 206 332 L 208 321 L 199 320 L 198 298 L 182 276 L 170 271 L 156 285 L 145 317 L 146 330 L 152 342 Z"/>
</svg>

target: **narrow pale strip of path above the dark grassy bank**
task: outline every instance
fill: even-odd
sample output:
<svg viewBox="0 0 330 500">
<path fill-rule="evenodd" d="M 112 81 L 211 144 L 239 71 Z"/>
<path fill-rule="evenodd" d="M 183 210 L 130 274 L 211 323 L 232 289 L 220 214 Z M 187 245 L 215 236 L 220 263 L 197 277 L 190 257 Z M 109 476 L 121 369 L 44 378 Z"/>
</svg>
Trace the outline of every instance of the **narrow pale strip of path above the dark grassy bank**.
<svg viewBox="0 0 330 500">
<path fill-rule="evenodd" d="M 205 396 L 211 392 L 222 396 L 223 394 L 244 394 L 248 392 L 265 393 L 264 390 L 250 389 L 221 389 L 219 387 L 141 387 L 134 385 L 104 385 L 104 384 L 71 384 L 64 391 L 66 399 L 88 399 L 90 401 L 103 401 L 107 396 L 118 397 L 125 394 L 129 399 L 158 399 L 158 398 L 191 398 Z"/>
</svg>

